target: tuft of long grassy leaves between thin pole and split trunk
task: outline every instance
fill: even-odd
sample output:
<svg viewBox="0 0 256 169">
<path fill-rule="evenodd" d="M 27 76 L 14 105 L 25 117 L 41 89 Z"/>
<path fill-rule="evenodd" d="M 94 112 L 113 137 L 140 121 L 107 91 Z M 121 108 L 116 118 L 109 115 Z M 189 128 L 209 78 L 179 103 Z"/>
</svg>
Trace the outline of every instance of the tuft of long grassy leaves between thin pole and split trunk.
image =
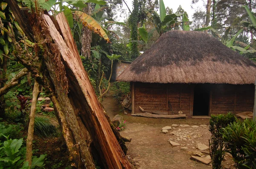
<svg viewBox="0 0 256 169">
<path fill-rule="evenodd" d="M 56 127 L 49 118 L 35 117 L 35 134 L 49 137 L 56 132 Z"/>
</svg>

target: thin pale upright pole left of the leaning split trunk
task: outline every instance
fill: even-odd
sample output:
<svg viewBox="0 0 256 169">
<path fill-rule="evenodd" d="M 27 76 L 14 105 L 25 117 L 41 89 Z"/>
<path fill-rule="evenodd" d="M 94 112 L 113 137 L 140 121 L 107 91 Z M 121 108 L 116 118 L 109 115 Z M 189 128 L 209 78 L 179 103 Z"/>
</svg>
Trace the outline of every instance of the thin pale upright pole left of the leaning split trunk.
<svg viewBox="0 0 256 169">
<path fill-rule="evenodd" d="M 32 142 L 34 137 L 34 126 L 35 126 L 35 110 L 36 110 L 36 103 L 39 95 L 39 84 L 35 80 L 34 89 L 33 89 L 33 98 L 32 98 L 32 105 L 31 105 L 31 112 L 29 115 L 29 129 L 28 129 L 28 137 L 26 140 L 26 161 L 29 162 L 29 166 L 32 165 Z"/>
</svg>

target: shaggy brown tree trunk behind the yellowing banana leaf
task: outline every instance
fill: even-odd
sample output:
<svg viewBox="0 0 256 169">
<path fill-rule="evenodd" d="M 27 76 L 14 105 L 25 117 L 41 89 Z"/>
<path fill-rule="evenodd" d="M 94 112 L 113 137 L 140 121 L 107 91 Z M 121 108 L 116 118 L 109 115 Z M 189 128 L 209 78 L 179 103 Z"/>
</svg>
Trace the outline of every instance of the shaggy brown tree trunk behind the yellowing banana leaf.
<svg viewBox="0 0 256 169">
<path fill-rule="evenodd" d="M 87 3 L 87 7 L 84 9 L 84 12 L 88 15 L 91 14 L 90 3 Z M 81 55 L 84 57 L 90 58 L 90 48 L 92 42 L 92 31 L 87 27 L 83 26 L 82 37 L 81 37 Z"/>
</svg>

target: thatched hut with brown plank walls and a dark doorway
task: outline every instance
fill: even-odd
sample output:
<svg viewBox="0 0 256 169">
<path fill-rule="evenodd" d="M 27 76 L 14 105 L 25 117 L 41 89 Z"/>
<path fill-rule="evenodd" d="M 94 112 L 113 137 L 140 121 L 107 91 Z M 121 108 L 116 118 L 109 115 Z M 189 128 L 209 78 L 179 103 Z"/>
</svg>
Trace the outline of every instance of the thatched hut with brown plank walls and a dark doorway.
<svg viewBox="0 0 256 169">
<path fill-rule="evenodd" d="M 253 111 L 256 65 L 218 39 L 169 31 L 117 78 L 131 82 L 132 115 Z"/>
</svg>

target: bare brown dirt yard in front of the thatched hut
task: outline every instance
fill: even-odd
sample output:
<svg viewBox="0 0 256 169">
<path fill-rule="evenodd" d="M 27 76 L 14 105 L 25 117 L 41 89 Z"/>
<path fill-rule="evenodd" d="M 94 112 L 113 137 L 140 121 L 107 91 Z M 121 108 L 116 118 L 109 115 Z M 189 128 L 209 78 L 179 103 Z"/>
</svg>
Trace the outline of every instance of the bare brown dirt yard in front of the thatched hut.
<svg viewBox="0 0 256 169">
<path fill-rule="evenodd" d="M 208 127 L 175 127 L 167 134 L 161 132 L 162 127 L 172 126 L 172 124 L 200 125 L 209 124 L 209 119 L 156 119 L 145 117 L 134 117 L 124 115 L 122 106 L 117 103 L 111 95 L 108 95 L 103 106 L 111 117 L 122 115 L 127 121 L 126 129 L 121 132 L 122 136 L 132 138 L 131 143 L 126 143 L 128 147 L 128 158 L 131 159 L 135 168 L 138 169 L 210 169 L 211 165 L 206 165 L 194 160 L 190 160 L 191 152 L 197 151 L 196 144 L 209 145 L 210 132 Z M 175 141 L 180 146 L 172 146 L 169 141 Z M 188 147 L 188 151 L 183 151 L 182 146 Z M 204 154 L 205 156 L 208 154 Z M 223 162 L 229 168 L 232 161 L 227 158 Z"/>
</svg>

